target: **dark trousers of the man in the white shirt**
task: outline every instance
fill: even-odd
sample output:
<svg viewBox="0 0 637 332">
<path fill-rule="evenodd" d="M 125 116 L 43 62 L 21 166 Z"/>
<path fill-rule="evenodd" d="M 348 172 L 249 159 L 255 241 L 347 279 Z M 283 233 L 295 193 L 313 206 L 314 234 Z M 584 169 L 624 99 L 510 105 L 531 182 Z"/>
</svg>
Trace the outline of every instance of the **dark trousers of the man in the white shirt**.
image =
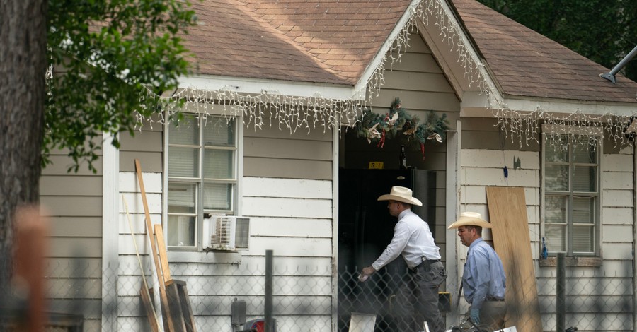
<svg viewBox="0 0 637 332">
<path fill-rule="evenodd" d="M 447 271 L 440 261 L 424 261 L 406 274 L 396 295 L 399 331 L 423 331 L 423 321 L 427 321 L 431 332 L 445 331 L 438 309 L 438 286 L 446 279 Z"/>
</svg>

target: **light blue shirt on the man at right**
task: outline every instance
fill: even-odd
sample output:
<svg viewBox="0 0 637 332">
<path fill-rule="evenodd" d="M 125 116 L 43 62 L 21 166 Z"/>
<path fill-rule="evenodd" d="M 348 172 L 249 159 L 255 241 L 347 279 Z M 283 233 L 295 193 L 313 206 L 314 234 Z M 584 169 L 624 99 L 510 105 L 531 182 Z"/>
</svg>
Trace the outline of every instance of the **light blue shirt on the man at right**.
<svg viewBox="0 0 637 332">
<path fill-rule="evenodd" d="M 481 309 L 486 297 L 505 297 L 506 276 L 502 261 L 495 250 L 479 237 L 469 246 L 462 287 L 464 298 L 472 309 Z"/>
</svg>

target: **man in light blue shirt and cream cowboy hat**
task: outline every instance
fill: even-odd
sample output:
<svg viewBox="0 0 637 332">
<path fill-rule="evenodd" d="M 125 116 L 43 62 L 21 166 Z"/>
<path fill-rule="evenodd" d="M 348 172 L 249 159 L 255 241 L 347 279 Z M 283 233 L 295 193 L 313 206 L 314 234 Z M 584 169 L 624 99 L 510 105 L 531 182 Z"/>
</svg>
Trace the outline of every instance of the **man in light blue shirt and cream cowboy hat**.
<svg viewBox="0 0 637 332">
<path fill-rule="evenodd" d="M 471 304 L 469 316 L 474 324 L 486 325 L 489 331 L 505 327 L 505 272 L 502 260 L 482 239 L 482 229 L 491 224 L 476 212 L 463 212 L 449 230 L 458 229 L 460 241 L 469 247 L 464 263 L 462 288 L 466 302 Z"/>
</svg>

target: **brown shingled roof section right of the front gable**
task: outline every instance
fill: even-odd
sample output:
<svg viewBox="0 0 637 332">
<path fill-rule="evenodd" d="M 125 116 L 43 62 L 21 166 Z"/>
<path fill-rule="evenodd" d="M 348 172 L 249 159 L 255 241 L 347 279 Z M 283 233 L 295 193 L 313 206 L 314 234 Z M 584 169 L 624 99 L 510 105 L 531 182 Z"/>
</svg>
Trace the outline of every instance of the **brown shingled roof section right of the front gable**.
<svg viewBox="0 0 637 332">
<path fill-rule="evenodd" d="M 507 95 L 567 100 L 636 102 L 637 83 L 613 84 L 594 61 L 475 0 L 452 0 L 466 31 Z"/>
</svg>

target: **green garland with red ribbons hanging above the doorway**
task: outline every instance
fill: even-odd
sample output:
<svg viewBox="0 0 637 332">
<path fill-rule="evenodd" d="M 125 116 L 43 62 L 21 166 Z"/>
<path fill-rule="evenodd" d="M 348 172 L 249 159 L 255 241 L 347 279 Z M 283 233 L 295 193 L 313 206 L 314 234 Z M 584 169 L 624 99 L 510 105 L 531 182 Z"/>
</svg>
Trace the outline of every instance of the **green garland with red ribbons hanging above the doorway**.
<svg viewBox="0 0 637 332">
<path fill-rule="evenodd" d="M 420 122 L 418 117 L 409 114 L 402 107 L 398 98 L 391 103 L 389 113 L 379 114 L 367 109 L 356 126 L 357 136 L 365 137 L 369 143 L 374 142 L 379 147 L 384 146 L 386 139 L 396 136 L 420 143 L 420 146 L 430 139 L 442 143 L 447 136 L 447 130 L 447 114 L 443 113 L 442 117 L 438 117 L 435 112 L 430 111 L 425 121 Z"/>
</svg>

